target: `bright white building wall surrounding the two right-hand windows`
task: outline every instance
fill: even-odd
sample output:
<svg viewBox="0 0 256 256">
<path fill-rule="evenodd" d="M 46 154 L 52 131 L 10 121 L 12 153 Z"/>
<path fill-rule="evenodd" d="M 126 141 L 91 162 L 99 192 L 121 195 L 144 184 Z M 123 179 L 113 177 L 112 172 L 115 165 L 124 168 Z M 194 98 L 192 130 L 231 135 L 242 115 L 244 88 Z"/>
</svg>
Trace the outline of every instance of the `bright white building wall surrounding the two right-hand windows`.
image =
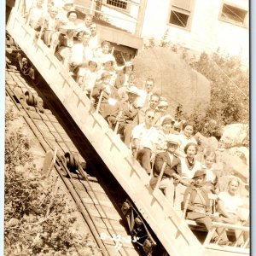
<svg viewBox="0 0 256 256">
<path fill-rule="evenodd" d="M 172 0 L 148 0 L 143 21 L 143 38 L 160 40 L 168 29 L 168 37 L 173 44 L 182 44 L 197 51 L 220 52 L 241 55 L 248 65 L 248 28 L 219 20 L 223 3 L 235 4 L 248 9 L 247 0 L 194 0 L 191 7 L 189 29 L 169 24 Z"/>
</svg>

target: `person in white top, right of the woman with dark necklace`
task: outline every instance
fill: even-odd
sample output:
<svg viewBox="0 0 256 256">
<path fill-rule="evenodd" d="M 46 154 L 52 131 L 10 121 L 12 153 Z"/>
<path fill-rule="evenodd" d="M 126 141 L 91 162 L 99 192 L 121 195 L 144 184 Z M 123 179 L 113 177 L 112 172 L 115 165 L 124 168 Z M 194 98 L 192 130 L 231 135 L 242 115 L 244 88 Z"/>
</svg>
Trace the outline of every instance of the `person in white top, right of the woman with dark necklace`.
<svg viewBox="0 0 256 256">
<path fill-rule="evenodd" d="M 218 177 L 216 171 L 213 168 L 213 164 L 216 163 L 216 154 L 212 150 L 206 150 L 203 154 L 203 162 L 201 165 L 201 170 L 206 172 L 206 184 L 204 189 L 207 189 L 208 192 L 218 194 L 218 188 L 216 187 L 218 183 Z"/>
</svg>

